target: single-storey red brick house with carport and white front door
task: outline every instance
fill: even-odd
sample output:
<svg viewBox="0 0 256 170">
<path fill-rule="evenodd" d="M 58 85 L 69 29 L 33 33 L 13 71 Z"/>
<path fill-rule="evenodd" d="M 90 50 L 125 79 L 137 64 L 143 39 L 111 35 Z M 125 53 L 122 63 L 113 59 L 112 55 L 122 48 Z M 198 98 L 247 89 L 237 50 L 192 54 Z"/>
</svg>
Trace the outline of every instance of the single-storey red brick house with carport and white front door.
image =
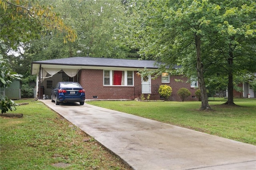
<svg viewBox="0 0 256 170">
<path fill-rule="evenodd" d="M 178 89 L 185 87 L 192 95 L 188 100 L 197 100 L 196 82 L 183 76 L 170 76 L 162 73 L 156 79 L 151 75 L 141 77 L 138 69 L 156 70 L 156 61 L 111 59 L 96 57 L 70 57 L 45 61 L 34 61 L 31 65 L 32 75 L 37 75 L 37 91 L 50 97 L 52 88 L 59 81 L 76 81 L 86 91 L 86 99 L 135 99 L 142 94 L 150 99 L 160 99 L 160 85 L 170 85 L 170 101 L 180 101 Z M 41 77 L 41 79 L 39 78 Z M 180 80 L 180 81 L 176 81 Z"/>
</svg>

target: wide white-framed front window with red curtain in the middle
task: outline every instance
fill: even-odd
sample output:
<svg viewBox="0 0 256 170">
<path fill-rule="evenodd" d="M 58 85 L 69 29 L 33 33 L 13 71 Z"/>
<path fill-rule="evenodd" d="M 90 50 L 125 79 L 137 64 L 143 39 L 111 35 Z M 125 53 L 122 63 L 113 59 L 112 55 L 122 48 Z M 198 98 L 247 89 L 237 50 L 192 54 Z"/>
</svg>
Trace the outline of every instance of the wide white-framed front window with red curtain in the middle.
<svg viewBox="0 0 256 170">
<path fill-rule="evenodd" d="M 104 70 L 104 85 L 133 85 L 133 71 Z"/>
</svg>

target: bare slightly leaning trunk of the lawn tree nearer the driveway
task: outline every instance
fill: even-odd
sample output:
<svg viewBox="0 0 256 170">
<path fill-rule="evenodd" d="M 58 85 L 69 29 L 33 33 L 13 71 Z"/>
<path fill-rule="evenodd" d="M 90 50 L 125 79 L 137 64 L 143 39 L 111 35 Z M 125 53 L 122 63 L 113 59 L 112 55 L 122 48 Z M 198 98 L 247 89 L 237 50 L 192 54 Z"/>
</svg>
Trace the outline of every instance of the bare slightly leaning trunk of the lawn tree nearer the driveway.
<svg viewBox="0 0 256 170">
<path fill-rule="evenodd" d="M 201 61 L 201 36 L 195 34 L 195 44 L 196 44 L 196 70 L 198 83 L 201 91 L 201 108 L 200 110 L 211 109 L 208 103 L 208 96 L 206 92 L 205 82 L 204 82 L 204 67 Z"/>
</svg>

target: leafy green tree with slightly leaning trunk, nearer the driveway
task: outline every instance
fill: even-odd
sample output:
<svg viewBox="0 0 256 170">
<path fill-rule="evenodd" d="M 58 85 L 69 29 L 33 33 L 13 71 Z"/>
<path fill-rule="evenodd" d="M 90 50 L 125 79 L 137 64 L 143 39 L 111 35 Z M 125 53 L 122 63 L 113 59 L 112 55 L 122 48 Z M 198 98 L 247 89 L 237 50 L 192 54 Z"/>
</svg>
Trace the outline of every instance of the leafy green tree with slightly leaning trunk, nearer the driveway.
<svg viewBox="0 0 256 170">
<path fill-rule="evenodd" d="M 214 6 L 192 1 L 141 1 L 133 6 L 130 43 L 138 45 L 140 53 L 151 59 L 165 63 L 172 68 L 176 63 L 192 61 L 192 70 L 186 75 L 197 75 L 202 92 L 200 109 L 210 109 L 204 82 L 203 59 L 204 32 L 206 25 L 200 20 Z M 131 23 L 131 24 L 129 24 Z M 132 29 L 131 29 L 132 28 Z"/>
</svg>

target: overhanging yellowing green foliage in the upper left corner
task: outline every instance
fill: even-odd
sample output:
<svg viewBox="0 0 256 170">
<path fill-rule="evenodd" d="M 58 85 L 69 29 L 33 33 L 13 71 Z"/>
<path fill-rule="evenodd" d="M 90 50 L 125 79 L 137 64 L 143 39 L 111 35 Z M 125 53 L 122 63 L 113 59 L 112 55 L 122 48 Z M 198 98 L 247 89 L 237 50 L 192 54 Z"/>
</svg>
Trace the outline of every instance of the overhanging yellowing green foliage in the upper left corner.
<svg viewBox="0 0 256 170">
<path fill-rule="evenodd" d="M 1 39 L 10 47 L 16 48 L 21 42 L 40 38 L 45 30 L 58 30 L 65 35 L 63 41 L 74 42 L 76 32 L 66 26 L 59 14 L 52 11 L 52 6 L 44 6 L 40 1 L 1 0 Z"/>
</svg>

